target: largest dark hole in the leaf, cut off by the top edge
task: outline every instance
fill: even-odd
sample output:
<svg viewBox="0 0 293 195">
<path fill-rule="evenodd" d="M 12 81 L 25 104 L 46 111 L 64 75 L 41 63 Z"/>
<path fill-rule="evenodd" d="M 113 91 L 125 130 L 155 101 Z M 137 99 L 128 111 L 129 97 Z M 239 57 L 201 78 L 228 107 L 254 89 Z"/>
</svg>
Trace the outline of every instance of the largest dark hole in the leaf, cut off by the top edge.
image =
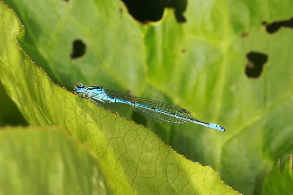
<svg viewBox="0 0 293 195">
<path fill-rule="evenodd" d="M 129 14 L 136 20 L 147 23 L 158 21 L 163 17 L 165 8 L 173 8 L 178 22 L 186 22 L 183 12 L 186 10 L 187 0 L 122 0 Z"/>
</svg>

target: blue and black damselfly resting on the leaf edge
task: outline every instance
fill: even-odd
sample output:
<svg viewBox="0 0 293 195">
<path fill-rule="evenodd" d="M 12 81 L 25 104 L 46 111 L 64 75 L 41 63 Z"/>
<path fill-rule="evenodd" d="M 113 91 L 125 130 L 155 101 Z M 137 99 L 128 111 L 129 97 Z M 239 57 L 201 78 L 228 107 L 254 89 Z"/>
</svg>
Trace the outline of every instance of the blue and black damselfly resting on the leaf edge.
<svg viewBox="0 0 293 195">
<path fill-rule="evenodd" d="M 84 86 L 79 84 L 76 85 L 75 92 L 81 94 L 83 97 L 89 98 L 95 103 L 98 103 L 97 101 L 102 102 L 100 105 L 103 105 L 105 102 L 123 103 L 134 112 L 158 122 L 167 124 L 195 123 L 221 132 L 226 131 L 220 125 L 194 119 L 184 108 L 172 106 L 160 101 L 139 98 L 120 91 L 105 89 L 101 86 Z"/>
</svg>

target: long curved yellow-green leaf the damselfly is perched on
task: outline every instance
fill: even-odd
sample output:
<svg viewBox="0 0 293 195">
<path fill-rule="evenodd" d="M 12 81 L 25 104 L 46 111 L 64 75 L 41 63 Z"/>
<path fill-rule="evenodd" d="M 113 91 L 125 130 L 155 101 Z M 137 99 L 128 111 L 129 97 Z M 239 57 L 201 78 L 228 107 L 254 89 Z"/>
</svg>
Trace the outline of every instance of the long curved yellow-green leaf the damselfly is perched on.
<svg viewBox="0 0 293 195">
<path fill-rule="evenodd" d="M 0 78 L 29 124 L 58 124 L 98 157 L 115 194 L 238 194 L 211 168 L 187 160 L 151 130 L 52 83 L 21 51 L 23 27 L 0 3 Z M 70 193 L 69 193 L 70 194 Z"/>
</svg>

